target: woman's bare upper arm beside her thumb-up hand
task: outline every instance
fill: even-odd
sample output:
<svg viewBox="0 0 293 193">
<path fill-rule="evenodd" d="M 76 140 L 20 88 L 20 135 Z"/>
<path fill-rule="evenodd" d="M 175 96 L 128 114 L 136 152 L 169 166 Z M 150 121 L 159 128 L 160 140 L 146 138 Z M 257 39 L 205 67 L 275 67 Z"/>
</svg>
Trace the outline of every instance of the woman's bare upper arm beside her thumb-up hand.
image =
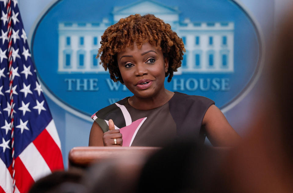
<svg viewBox="0 0 293 193">
<path fill-rule="evenodd" d="M 103 135 L 102 128 L 94 121 L 91 132 L 89 133 L 89 146 L 104 146 Z"/>
</svg>

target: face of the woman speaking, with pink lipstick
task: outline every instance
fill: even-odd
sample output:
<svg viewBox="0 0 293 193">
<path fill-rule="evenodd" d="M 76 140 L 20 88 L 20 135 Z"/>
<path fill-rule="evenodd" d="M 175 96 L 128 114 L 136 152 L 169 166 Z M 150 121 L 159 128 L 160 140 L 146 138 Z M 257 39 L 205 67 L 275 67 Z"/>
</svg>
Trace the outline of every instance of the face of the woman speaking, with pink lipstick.
<svg viewBox="0 0 293 193">
<path fill-rule="evenodd" d="M 139 50 L 126 48 L 117 54 L 118 67 L 125 86 L 140 98 L 155 97 L 165 91 L 168 59 L 161 50 L 146 42 Z"/>
</svg>

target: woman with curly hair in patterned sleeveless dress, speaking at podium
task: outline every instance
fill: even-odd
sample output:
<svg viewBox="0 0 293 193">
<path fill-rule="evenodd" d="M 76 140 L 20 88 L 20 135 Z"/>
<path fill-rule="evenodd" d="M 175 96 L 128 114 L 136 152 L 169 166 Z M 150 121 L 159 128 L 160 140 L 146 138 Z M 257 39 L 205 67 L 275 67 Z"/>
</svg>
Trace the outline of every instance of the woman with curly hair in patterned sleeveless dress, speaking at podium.
<svg viewBox="0 0 293 193">
<path fill-rule="evenodd" d="M 239 141 L 212 100 L 165 89 L 185 51 L 169 24 L 131 15 L 108 27 L 101 44 L 101 64 L 133 96 L 92 115 L 89 146 L 164 146 L 177 137 L 204 142 L 205 136 L 214 146 Z"/>
</svg>

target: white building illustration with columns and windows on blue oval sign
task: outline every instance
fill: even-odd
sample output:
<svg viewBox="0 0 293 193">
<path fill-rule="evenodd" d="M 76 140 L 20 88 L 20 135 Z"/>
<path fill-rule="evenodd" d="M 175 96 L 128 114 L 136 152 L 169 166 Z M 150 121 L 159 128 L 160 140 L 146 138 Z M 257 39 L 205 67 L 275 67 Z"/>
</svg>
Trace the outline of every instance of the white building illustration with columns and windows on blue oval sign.
<svg viewBox="0 0 293 193">
<path fill-rule="evenodd" d="M 153 0 L 142 0 L 123 7 L 114 7 L 113 21 L 104 18 L 97 23 L 59 23 L 58 72 L 105 73 L 96 54 L 101 36 L 108 26 L 131 14 L 147 13 L 169 23 L 183 39 L 182 68 L 174 73 L 231 73 L 234 72 L 234 23 L 179 21 L 180 11 Z M 106 72 L 107 73 L 107 72 Z"/>
</svg>

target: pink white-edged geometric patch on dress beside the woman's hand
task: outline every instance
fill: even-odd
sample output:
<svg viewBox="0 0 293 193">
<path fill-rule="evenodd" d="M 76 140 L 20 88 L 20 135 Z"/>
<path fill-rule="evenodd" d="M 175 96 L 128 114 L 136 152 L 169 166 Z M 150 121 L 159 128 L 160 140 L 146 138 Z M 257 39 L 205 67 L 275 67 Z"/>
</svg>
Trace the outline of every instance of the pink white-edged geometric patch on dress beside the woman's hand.
<svg viewBox="0 0 293 193">
<path fill-rule="evenodd" d="M 146 117 L 138 119 L 136 121 L 133 121 L 130 125 L 119 129 L 120 133 L 122 134 L 122 140 L 123 140 L 122 146 L 129 147 L 131 145 L 137 131 L 139 130 L 139 128 L 141 126 L 141 123 L 145 119 L 146 119 Z"/>
</svg>

